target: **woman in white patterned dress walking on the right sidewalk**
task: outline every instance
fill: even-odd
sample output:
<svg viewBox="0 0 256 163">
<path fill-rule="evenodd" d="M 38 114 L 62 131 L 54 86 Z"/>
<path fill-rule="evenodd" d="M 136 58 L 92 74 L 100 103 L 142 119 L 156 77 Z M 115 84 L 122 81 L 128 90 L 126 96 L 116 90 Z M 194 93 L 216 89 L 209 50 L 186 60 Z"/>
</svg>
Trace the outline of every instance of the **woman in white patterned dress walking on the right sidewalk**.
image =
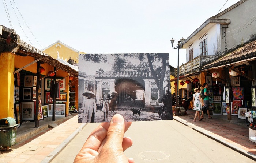
<svg viewBox="0 0 256 163">
<path fill-rule="evenodd" d="M 197 116 L 198 116 L 199 120 L 202 120 L 200 118 L 200 110 L 202 110 L 201 104 L 203 104 L 203 100 L 201 98 L 201 95 L 199 93 L 199 89 L 198 88 L 195 88 L 194 92 L 195 92 L 195 94 L 193 94 L 193 106 L 194 106 L 193 110 L 195 110 L 196 113 L 195 113 L 195 117 L 194 117 L 193 122 L 197 122 L 196 121 L 196 117 Z"/>
</svg>

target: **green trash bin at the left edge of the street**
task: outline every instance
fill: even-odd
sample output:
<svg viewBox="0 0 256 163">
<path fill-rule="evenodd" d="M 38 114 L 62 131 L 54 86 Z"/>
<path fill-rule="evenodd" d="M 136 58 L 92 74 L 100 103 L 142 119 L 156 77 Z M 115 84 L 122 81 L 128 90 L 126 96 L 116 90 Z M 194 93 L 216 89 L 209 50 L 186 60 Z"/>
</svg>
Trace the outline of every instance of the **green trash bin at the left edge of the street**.
<svg viewBox="0 0 256 163">
<path fill-rule="evenodd" d="M 16 144 L 17 127 L 16 121 L 12 117 L 0 119 L 0 146 L 9 147 Z"/>
</svg>

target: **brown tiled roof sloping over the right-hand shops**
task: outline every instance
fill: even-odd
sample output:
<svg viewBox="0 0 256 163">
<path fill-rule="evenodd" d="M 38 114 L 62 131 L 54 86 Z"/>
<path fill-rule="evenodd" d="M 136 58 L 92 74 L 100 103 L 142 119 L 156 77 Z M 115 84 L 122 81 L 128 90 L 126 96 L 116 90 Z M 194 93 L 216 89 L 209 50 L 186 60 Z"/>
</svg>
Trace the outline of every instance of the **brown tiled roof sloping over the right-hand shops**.
<svg viewBox="0 0 256 163">
<path fill-rule="evenodd" d="M 256 57 L 256 40 L 237 48 L 233 52 L 219 56 L 217 59 L 212 60 L 210 63 L 200 67 L 199 70 L 232 64 L 237 61 L 249 61 L 250 59 L 254 59 L 254 57 Z"/>
</svg>

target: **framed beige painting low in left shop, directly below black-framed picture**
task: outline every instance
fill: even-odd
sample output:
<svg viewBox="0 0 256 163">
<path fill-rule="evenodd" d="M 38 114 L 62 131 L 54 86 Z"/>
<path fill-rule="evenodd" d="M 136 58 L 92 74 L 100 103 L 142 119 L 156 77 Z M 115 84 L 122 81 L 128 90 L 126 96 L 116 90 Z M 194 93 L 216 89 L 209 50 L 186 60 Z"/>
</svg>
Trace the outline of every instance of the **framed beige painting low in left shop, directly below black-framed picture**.
<svg viewBox="0 0 256 163">
<path fill-rule="evenodd" d="M 22 102 L 21 115 L 22 120 L 35 120 L 34 102 Z"/>
</svg>

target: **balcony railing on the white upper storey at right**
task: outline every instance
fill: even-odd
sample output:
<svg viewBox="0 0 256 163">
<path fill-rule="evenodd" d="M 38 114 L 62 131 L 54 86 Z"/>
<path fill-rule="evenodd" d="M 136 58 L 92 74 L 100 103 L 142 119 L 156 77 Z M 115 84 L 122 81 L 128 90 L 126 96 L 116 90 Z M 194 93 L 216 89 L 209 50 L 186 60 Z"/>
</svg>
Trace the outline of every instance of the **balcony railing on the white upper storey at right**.
<svg viewBox="0 0 256 163">
<path fill-rule="evenodd" d="M 215 56 L 198 56 L 179 67 L 179 76 L 190 74 L 199 70 L 200 66 L 206 64 Z M 175 69 L 175 76 L 177 77 L 177 68 Z"/>
</svg>

